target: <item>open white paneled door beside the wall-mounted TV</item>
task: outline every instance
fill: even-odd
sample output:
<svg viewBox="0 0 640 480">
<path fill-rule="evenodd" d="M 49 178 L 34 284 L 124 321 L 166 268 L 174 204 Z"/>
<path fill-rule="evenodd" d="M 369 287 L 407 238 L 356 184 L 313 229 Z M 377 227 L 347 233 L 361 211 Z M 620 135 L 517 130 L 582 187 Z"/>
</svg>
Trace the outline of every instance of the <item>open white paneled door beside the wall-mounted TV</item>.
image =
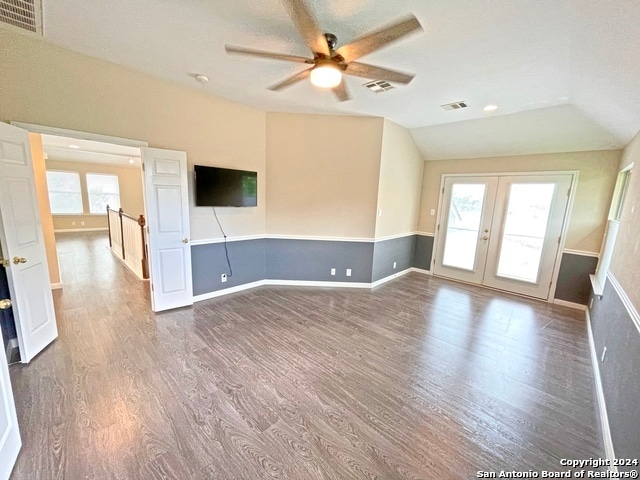
<svg viewBox="0 0 640 480">
<path fill-rule="evenodd" d="M 141 148 L 147 209 L 151 307 L 193 304 L 187 154 Z"/>
</svg>

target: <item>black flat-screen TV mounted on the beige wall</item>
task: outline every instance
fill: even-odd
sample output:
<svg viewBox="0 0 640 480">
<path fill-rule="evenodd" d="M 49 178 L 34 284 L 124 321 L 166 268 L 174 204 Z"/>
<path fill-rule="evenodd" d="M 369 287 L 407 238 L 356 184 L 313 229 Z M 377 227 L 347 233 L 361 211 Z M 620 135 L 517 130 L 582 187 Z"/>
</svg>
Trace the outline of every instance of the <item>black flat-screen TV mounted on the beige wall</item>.
<svg viewBox="0 0 640 480">
<path fill-rule="evenodd" d="M 255 207 L 258 205 L 258 174 L 245 170 L 196 165 L 197 207 Z"/>
</svg>

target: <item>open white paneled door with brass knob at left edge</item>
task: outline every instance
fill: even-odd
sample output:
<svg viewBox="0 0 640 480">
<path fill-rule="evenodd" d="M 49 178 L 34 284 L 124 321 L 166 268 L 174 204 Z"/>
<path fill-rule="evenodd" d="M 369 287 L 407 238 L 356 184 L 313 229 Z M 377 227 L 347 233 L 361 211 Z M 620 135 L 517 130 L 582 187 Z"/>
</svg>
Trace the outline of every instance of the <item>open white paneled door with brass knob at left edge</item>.
<svg viewBox="0 0 640 480">
<path fill-rule="evenodd" d="M 57 336 L 28 133 L 0 122 L 0 242 L 20 358 L 28 363 Z"/>
</svg>

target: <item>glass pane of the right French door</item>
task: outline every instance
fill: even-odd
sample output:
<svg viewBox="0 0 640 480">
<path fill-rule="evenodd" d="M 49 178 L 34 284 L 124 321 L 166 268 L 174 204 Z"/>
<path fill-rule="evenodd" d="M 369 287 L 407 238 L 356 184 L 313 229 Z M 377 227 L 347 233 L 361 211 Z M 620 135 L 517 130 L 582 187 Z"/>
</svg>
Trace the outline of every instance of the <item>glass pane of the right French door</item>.
<svg viewBox="0 0 640 480">
<path fill-rule="evenodd" d="M 511 185 L 498 260 L 499 277 L 538 282 L 554 193 L 554 183 Z"/>
</svg>

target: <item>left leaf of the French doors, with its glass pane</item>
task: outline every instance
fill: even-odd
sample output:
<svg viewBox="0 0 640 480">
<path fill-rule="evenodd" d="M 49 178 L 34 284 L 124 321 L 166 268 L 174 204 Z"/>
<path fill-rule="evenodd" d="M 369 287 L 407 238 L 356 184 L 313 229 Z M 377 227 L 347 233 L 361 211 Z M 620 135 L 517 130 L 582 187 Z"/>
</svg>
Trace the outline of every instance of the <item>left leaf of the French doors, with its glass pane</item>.
<svg viewBox="0 0 640 480">
<path fill-rule="evenodd" d="M 497 177 L 446 177 L 433 273 L 482 283 Z"/>
</svg>

